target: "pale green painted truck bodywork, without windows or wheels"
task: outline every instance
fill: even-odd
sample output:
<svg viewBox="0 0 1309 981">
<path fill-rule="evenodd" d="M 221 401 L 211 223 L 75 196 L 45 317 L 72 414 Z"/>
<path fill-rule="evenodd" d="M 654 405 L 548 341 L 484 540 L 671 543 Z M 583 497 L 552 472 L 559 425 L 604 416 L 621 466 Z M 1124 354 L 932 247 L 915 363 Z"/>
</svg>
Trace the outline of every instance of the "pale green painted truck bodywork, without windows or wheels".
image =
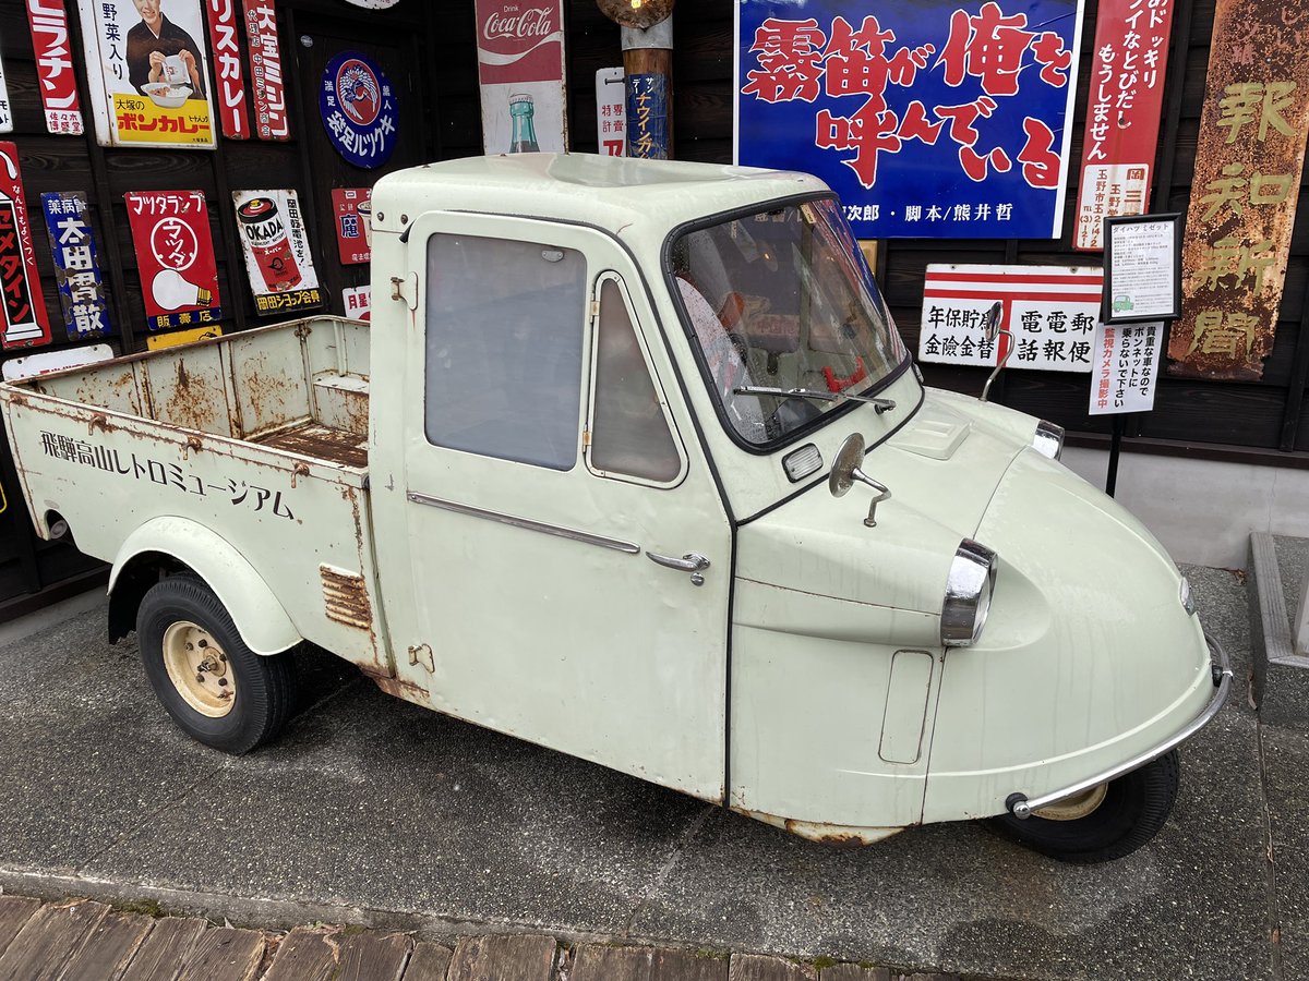
<svg viewBox="0 0 1309 981">
<path fill-rule="evenodd" d="M 64 518 L 114 562 L 115 593 L 143 557 L 191 566 L 258 653 L 313 641 L 399 697 L 810 838 L 999 815 L 1168 743 L 1215 692 L 1182 577 L 1126 510 L 1033 449 L 1037 420 L 924 388 L 906 364 L 877 392 L 895 409 L 834 413 L 798 443 L 747 451 L 720 421 L 665 279 L 670 233 L 821 194 L 801 174 L 580 154 L 385 177 L 370 327 L 318 318 L 0 388 L 33 521 L 48 535 Z M 675 480 L 588 466 L 585 404 L 563 472 L 424 438 L 441 234 L 576 249 L 593 289 L 620 280 Z M 179 408 L 183 377 L 208 379 L 223 411 Z M 253 399 L 270 379 L 278 399 Z M 367 437 L 367 464 L 266 439 L 304 419 Z M 295 518 L 51 459 L 50 432 L 183 483 L 281 492 Z M 876 527 L 867 488 L 826 487 L 852 433 L 893 492 Z M 823 466 L 797 484 L 781 458 L 801 443 Z M 997 553 L 996 586 L 978 641 L 946 647 L 962 539 Z M 704 555 L 703 585 L 641 552 Z"/>
</svg>

